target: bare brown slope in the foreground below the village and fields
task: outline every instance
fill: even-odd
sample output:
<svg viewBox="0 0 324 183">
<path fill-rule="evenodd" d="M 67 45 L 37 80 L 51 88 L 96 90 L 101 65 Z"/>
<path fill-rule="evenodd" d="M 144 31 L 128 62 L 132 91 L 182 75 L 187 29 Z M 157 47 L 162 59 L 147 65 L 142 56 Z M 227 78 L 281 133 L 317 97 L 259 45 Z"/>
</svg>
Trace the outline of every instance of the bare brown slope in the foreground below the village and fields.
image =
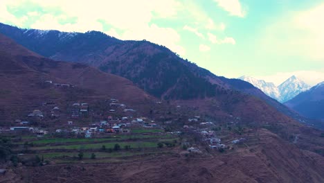
<svg viewBox="0 0 324 183">
<path fill-rule="evenodd" d="M 252 141 L 252 139 L 251 139 Z M 154 157 L 119 164 L 54 164 L 17 168 L 2 179 L 24 182 L 313 182 L 324 180 L 324 158 L 259 130 L 255 145 L 213 157 Z M 66 168 L 68 166 L 69 168 Z M 11 177 L 10 177 L 11 176 Z M 77 179 L 75 177 L 78 177 Z"/>
</svg>

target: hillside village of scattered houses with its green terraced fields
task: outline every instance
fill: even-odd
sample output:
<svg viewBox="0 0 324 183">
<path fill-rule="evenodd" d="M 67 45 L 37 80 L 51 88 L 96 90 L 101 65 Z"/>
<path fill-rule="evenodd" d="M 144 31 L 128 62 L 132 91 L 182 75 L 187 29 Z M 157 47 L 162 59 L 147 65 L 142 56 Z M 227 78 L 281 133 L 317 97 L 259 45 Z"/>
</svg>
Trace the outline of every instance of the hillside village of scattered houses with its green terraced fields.
<svg viewBox="0 0 324 183">
<path fill-rule="evenodd" d="M 74 87 L 52 81 L 46 83 L 55 87 Z M 242 134 L 247 130 L 237 127 L 239 117 L 219 123 L 188 115 L 180 121 L 177 116 L 181 112 L 167 112 L 168 117 L 156 118 L 150 115 L 151 110 L 149 116 L 143 116 L 118 98 L 109 98 L 101 105 L 103 110 L 98 110 L 100 107 L 91 101 L 66 105 L 44 102 L 26 116 L 16 119 L 11 126 L 2 127 L 0 135 L 12 138 L 20 159 L 43 157 L 56 163 L 78 162 L 80 159 L 109 162 L 125 158 L 145 159 L 152 155 L 206 156 L 231 153 L 234 147 L 246 147 L 248 138 Z M 162 110 L 165 110 L 162 106 L 169 107 L 164 101 L 156 101 L 154 106 Z M 181 106 L 176 105 L 174 109 L 179 111 Z"/>
</svg>

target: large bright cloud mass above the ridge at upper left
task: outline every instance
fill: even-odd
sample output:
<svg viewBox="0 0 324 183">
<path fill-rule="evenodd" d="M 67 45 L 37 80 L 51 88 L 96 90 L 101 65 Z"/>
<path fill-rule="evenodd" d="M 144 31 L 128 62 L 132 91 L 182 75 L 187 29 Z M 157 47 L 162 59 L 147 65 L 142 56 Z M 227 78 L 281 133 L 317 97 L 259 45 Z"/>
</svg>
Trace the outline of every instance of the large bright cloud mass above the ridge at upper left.
<svg viewBox="0 0 324 183">
<path fill-rule="evenodd" d="M 39 10 L 26 7 L 26 4 L 39 7 Z M 15 12 L 9 12 L 9 8 Z M 176 0 L 1 0 L 0 21 L 24 28 L 28 26 L 28 28 L 82 33 L 98 30 L 121 40 L 146 39 L 168 46 L 172 51 L 183 56 L 186 51 L 179 46 L 180 35 L 177 31 L 152 24 L 152 19 L 174 18 L 182 9 L 181 3 Z M 26 12 L 26 15 L 19 17 L 17 12 Z M 62 23 L 62 20 L 72 18 L 75 21 Z"/>
</svg>

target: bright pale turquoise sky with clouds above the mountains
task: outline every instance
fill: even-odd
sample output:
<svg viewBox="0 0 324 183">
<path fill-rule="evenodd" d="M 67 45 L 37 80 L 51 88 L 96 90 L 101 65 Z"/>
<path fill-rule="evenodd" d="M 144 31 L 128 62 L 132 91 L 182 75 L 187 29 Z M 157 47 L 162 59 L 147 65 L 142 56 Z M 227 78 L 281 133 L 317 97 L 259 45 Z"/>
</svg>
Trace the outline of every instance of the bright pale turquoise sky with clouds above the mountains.
<svg viewBox="0 0 324 183">
<path fill-rule="evenodd" d="M 148 40 L 227 78 L 324 81 L 324 0 L 1 0 L 0 22 Z"/>
</svg>

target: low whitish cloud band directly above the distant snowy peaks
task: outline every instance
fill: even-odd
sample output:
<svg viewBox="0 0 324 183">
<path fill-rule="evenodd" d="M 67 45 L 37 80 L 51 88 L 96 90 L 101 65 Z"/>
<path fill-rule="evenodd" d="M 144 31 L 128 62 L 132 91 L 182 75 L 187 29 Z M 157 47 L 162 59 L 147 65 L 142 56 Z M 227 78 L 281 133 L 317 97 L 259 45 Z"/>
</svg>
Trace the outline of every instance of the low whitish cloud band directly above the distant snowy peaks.
<svg viewBox="0 0 324 183">
<path fill-rule="evenodd" d="M 324 70 L 323 71 L 293 71 L 293 72 L 279 72 L 268 76 L 255 76 L 255 78 L 266 80 L 267 82 L 273 82 L 275 85 L 280 85 L 282 82 L 296 76 L 300 78 L 308 85 L 314 86 L 319 82 L 324 81 Z"/>
</svg>

